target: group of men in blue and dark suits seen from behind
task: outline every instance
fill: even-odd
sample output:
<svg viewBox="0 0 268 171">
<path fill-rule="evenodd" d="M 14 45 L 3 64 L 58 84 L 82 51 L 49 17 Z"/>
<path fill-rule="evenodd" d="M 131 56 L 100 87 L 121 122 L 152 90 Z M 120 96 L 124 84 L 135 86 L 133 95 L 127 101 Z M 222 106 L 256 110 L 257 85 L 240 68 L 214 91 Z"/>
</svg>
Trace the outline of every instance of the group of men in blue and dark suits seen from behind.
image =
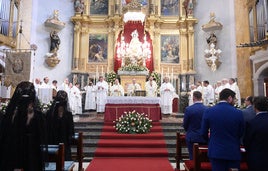
<svg viewBox="0 0 268 171">
<path fill-rule="evenodd" d="M 268 168 L 268 98 L 245 99 L 246 108 L 236 108 L 236 93 L 224 88 L 214 106 L 203 104 L 202 93 L 193 91 L 193 104 L 186 107 L 183 127 L 190 159 L 193 144 L 208 146 L 208 157 L 213 171 L 240 169 L 240 147 L 245 148 L 249 171 Z"/>
</svg>

